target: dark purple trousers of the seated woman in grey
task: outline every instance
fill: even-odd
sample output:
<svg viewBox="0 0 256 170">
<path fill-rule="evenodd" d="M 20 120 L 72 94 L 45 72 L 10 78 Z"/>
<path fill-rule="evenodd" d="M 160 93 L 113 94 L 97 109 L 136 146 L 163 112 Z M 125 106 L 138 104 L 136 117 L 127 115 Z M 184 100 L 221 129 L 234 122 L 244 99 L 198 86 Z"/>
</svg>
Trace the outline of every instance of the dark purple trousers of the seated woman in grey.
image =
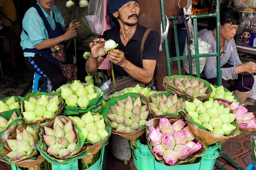
<svg viewBox="0 0 256 170">
<path fill-rule="evenodd" d="M 208 81 L 211 84 L 217 83 L 217 78 L 207 79 L 206 77 L 202 77 L 202 79 Z M 223 87 L 227 88 L 231 92 L 234 90 L 238 90 L 240 92 L 248 92 L 252 89 L 253 84 L 254 78 L 252 75 L 238 74 L 238 78 L 235 80 L 225 81 L 224 79 L 222 79 Z"/>
</svg>

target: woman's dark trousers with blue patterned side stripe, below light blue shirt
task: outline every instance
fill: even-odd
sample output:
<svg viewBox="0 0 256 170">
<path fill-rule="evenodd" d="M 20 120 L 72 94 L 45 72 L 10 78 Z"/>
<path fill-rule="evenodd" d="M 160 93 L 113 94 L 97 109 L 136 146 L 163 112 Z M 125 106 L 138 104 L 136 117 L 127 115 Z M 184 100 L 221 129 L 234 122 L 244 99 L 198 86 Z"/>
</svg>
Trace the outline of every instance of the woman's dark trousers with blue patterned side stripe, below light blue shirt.
<svg viewBox="0 0 256 170">
<path fill-rule="evenodd" d="M 50 79 L 52 90 L 56 91 L 60 86 L 66 84 L 66 78 L 63 75 L 61 69 L 53 64 L 48 59 L 44 58 L 41 55 L 36 54 L 34 57 L 31 57 L 38 68 Z M 37 71 L 37 69 L 28 61 L 28 57 L 25 57 L 25 63 L 29 69 L 36 72 L 39 75 L 42 75 Z"/>
</svg>

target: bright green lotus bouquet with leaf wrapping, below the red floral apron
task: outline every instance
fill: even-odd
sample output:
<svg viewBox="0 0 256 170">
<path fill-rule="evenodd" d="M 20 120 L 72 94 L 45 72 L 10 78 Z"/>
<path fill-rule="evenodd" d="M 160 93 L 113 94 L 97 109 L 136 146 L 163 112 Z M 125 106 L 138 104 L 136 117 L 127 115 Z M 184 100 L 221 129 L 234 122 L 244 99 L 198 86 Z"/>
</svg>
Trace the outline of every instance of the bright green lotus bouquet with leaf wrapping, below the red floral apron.
<svg viewBox="0 0 256 170">
<path fill-rule="evenodd" d="M 97 112 L 102 109 L 102 101 L 105 97 L 104 92 L 87 83 L 74 81 L 72 84 L 64 84 L 56 90 L 64 100 L 64 111 L 62 115 L 72 115 L 88 111 Z"/>
</svg>

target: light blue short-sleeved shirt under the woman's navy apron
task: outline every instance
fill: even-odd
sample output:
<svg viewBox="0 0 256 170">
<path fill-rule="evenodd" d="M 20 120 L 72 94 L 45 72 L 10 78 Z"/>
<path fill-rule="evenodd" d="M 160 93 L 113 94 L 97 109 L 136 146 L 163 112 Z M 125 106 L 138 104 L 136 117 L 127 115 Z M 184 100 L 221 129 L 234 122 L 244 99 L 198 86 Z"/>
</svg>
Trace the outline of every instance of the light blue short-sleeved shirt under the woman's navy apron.
<svg viewBox="0 0 256 170">
<path fill-rule="evenodd" d="M 40 6 L 39 2 L 37 4 Z M 60 10 L 53 5 L 53 7 L 50 9 L 50 16 L 42 9 L 46 19 L 48 20 L 50 26 L 53 30 L 56 29 L 55 21 L 53 19 L 53 12 L 55 15 L 56 22 L 60 23 L 62 28 L 65 28 L 64 19 L 60 13 Z M 45 39 L 49 39 L 48 32 L 44 26 L 44 22 L 42 18 L 39 16 L 37 10 L 34 7 L 31 7 L 27 10 L 23 21 L 22 21 L 22 27 L 23 29 L 28 33 L 28 36 L 25 34 L 25 32 L 22 30 L 21 33 L 21 42 L 20 45 L 22 46 L 22 49 L 25 48 L 35 48 L 35 44 L 42 42 Z M 32 56 L 34 57 L 35 53 L 31 52 L 24 52 L 25 57 Z"/>
</svg>

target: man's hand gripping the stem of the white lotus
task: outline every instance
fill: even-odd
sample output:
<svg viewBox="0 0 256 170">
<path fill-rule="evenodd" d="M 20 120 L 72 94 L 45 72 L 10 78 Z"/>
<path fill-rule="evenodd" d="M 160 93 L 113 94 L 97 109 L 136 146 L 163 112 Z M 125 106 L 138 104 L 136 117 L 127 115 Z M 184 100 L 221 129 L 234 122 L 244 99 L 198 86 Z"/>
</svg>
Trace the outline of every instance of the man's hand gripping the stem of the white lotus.
<svg viewBox="0 0 256 170">
<path fill-rule="evenodd" d="M 116 65 L 123 66 L 126 63 L 126 58 L 124 56 L 124 52 L 118 49 L 111 49 L 107 55 L 109 61 L 113 62 Z"/>
</svg>

